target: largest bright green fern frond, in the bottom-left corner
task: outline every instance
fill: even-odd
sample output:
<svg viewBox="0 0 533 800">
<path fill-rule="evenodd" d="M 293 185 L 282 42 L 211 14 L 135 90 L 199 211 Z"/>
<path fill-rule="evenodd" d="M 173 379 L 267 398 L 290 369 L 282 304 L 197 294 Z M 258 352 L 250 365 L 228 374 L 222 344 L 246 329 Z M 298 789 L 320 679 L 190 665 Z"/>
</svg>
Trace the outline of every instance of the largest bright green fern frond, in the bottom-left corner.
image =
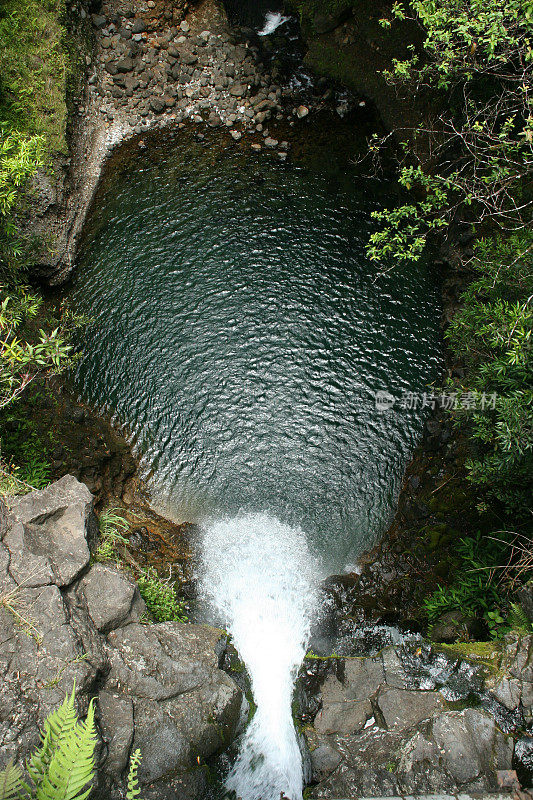
<svg viewBox="0 0 533 800">
<path fill-rule="evenodd" d="M 94 773 L 96 726 L 91 701 L 85 722 L 57 741 L 48 770 L 37 787 L 36 800 L 85 800 Z"/>
</svg>

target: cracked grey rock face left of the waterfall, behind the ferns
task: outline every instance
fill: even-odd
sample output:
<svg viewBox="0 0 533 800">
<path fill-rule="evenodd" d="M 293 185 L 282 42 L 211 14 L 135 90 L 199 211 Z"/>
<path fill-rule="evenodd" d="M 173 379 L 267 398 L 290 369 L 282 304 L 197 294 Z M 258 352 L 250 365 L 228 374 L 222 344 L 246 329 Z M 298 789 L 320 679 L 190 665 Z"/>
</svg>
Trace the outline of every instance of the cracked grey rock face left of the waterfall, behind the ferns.
<svg viewBox="0 0 533 800">
<path fill-rule="evenodd" d="M 92 497 L 72 476 L 1 512 L 0 768 L 27 758 L 75 681 L 80 713 L 97 698 L 102 798 L 123 796 L 137 747 L 143 796 L 197 797 L 198 759 L 232 741 L 241 714 L 242 693 L 219 668 L 223 632 L 140 624 L 136 585 L 90 563 Z"/>
</svg>

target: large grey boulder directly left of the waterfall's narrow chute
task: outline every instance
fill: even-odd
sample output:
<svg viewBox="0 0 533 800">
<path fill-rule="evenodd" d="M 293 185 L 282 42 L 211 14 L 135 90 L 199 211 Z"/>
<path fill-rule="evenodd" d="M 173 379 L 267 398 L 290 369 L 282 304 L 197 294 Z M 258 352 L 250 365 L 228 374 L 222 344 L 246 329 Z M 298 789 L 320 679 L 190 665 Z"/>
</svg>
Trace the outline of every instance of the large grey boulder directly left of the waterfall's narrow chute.
<svg viewBox="0 0 533 800">
<path fill-rule="evenodd" d="M 235 735 L 242 694 L 218 668 L 223 640 L 213 628 L 170 622 L 109 635 L 105 689 L 133 697 L 143 784 L 189 768 Z"/>
</svg>

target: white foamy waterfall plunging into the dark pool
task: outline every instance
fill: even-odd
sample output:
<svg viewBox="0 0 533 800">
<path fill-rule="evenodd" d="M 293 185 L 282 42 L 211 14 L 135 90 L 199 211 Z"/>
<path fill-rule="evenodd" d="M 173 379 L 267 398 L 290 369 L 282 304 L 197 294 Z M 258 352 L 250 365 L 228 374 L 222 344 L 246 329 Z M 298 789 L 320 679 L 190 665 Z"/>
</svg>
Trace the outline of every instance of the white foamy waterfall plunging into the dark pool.
<svg viewBox="0 0 533 800">
<path fill-rule="evenodd" d="M 226 782 L 242 800 L 302 796 L 291 700 L 317 614 L 319 580 L 304 533 L 269 514 L 243 514 L 203 529 L 203 592 L 226 621 L 257 705 Z"/>
</svg>

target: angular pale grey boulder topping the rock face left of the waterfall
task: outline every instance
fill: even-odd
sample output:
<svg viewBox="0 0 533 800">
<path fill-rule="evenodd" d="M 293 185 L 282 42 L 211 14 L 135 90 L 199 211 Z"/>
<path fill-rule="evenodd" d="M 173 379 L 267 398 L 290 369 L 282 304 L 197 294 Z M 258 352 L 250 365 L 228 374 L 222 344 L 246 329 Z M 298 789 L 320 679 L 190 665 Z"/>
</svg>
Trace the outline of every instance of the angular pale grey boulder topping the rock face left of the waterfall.
<svg viewBox="0 0 533 800">
<path fill-rule="evenodd" d="M 42 569 L 46 573 L 49 569 L 53 582 L 62 587 L 87 567 L 88 541 L 97 532 L 93 498 L 72 475 L 65 475 L 40 492 L 15 498 L 12 513 L 23 525 L 23 534 L 15 526 L 9 536 L 13 548 L 11 574 L 17 580 L 27 582 L 28 570 Z M 11 549 L 9 543 L 7 546 Z"/>
</svg>

